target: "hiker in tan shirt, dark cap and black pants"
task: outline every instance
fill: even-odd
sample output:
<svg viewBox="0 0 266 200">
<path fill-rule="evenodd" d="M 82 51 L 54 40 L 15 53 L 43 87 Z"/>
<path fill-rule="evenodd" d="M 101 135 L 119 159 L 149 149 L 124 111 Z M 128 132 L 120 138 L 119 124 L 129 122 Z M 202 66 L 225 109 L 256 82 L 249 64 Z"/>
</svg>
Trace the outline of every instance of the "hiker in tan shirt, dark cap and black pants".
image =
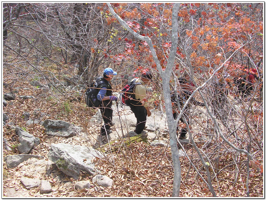
<svg viewBox="0 0 266 200">
<path fill-rule="evenodd" d="M 143 72 L 140 78 L 135 81 L 136 83 L 141 83 L 136 84 L 135 86 L 135 89 L 133 91 L 135 98 L 129 101 L 129 107 L 137 118 L 137 124 L 135 126 L 136 129 L 134 130 L 134 132 L 137 134 L 141 134 L 141 132 L 144 130 L 147 116 L 150 117 L 151 115 L 147 101 L 142 104 L 142 99 L 144 99 L 146 95 L 146 87 L 144 85 L 149 81 L 153 81 L 152 78 L 153 76 L 150 71 Z M 134 79 L 132 79 L 132 81 L 133 80 Z"/>
</svg>

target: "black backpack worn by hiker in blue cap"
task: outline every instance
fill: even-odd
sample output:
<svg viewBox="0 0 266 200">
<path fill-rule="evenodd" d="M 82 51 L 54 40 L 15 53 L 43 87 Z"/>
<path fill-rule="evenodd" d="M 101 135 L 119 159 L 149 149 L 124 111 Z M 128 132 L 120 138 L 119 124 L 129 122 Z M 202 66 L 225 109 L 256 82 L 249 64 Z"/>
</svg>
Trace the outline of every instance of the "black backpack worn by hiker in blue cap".
<svg viewBox="0 0 266 200">
<path fill-rule="evenodd" d="M 99 93 L 100 88 L 98 86 L 102 83 L 105 83 L 104 81 L 99 81 L 99 79 L 102 77 L 98 77 L 95 82 L 92 82 L 90 84 L 90 88 L 88 88 L 85 92 L 85 101 L 88 107 L 99 107 L 99 105 L 102 103 L 102 101 L 97 99 L 97 94 Z M 106 84 L 106 83 L 105 83 Z"/>
</svg>

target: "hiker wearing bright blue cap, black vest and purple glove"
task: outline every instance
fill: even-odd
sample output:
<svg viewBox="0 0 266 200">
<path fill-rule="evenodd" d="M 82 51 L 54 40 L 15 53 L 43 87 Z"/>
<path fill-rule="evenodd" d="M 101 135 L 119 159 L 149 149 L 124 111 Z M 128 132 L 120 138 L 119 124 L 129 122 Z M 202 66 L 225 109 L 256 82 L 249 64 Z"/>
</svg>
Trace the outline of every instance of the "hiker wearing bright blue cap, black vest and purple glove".
<svg viewBox="0 0 266 200">
<path fill-rule="evenodd" d="M 113 109 L 111 109 L 112 101 L 117 101 L 118 98 L 116 96 L 112 96 L 112 87 L 110 84 L 113 75 L 117 75 L 112 68 L 106 68 L 103 71 L 103 77 L 98 80 L 104 81 L 98 85 L 99 93 L 97 95 L 97 99 L 102 101 L 99 108 L 103 117 L 103 126 L 101 127 L 101 135 L 109 135 L 112 131 L 110 130 L 111 126 L 113 126 Z"/>
</svg>

